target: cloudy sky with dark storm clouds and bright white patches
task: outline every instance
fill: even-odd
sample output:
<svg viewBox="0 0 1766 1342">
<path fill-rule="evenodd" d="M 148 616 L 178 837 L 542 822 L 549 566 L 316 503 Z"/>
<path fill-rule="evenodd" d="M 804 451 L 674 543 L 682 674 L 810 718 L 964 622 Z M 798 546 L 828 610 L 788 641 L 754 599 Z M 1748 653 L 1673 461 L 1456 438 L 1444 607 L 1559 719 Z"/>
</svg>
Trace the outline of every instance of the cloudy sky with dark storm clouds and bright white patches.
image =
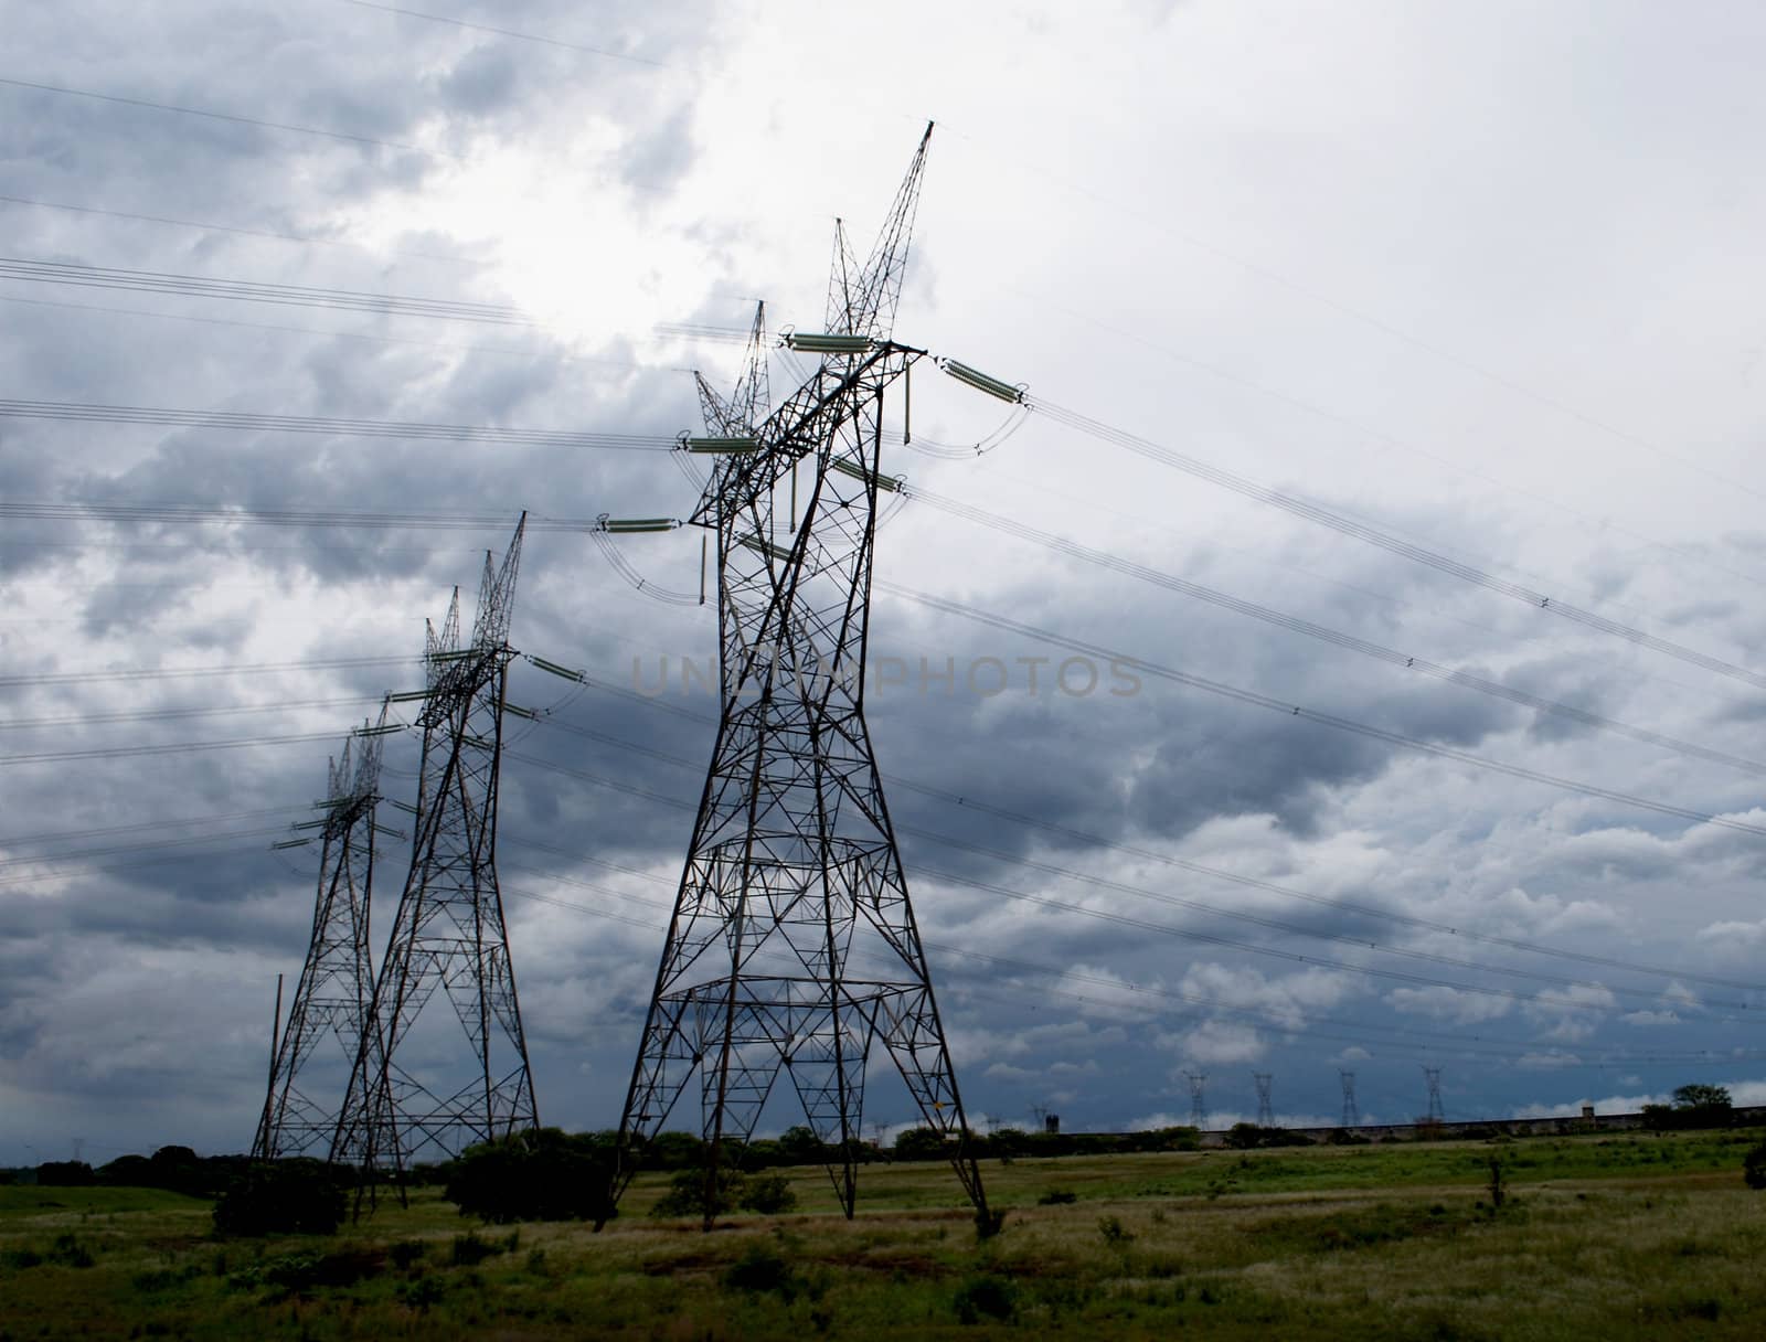
<svg viewBox="0 0 1766 1342">
<path fill-rule="evenodd" d="M 917 378 L 878 546 L 869 717 L 971 1118 L 1185 1121 L 1192 1072 L 1233 1121 L 1270 1072 L 1332 1121 L 1353 1070 L 1406 1120 L 1425 1065 L 1464 1118 L 1766 1102 L 1755 5 L 429 4 L 9 11 L 0 1164 L 249 1144 L 318 862 L 270 844 L 327 756 L 521 509 L 691 512 L 595 436 L 694 429 L 758 298 L 819 327 L 834 217 L 869 240 L 927 120 L 895 334 L 1037 404 L 977 454 L 1005 408 Z M 691 532 L 622 556 L 698 588 Z M 542 1118 L 604 1127 L 713 613 L 537 526 L 512 641 L 597 682 L 514 667 L 551 712 L 502 879 Z M 1266 703 L 1031 692 L 1075 645 Z M 984 657 L 1003 694 L 918 682 Z M 396 738 L 385 793 L 413 770 Z"/>
</svg>

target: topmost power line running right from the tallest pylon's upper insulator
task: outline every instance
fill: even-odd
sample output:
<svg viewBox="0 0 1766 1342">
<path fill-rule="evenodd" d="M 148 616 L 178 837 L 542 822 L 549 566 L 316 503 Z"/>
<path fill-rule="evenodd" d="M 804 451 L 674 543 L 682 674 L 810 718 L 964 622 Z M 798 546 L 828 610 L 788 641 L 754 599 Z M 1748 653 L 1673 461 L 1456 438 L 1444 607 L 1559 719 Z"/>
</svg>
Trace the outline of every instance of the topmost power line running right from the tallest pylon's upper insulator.
<svg viewBox="0 0 1766 1342">
<path fill-rule="evenodd" d="M 1683 662 L 1690 662 L 1692 666 L 1702 667 L 1706 671 L 1715 671 L 1717 675 L 1747 682 L 1748 685 L 1754 685 L 1757 689 L 1766 689 L 1766 676 L 1755 671 L 1748 671 L 1743 666 L 1736 666 L 1734 662 L 1725 662 L 1720 657 L 1711 657 L 1708 653 L 1688 648 L 1681 643 L 1674 643 L 1671 639 L 1648 634 L 1641 629 L 1634 629 L 1632 625 L 1623 625 L 1618 620 L 1609 620 L 1607 616 L 1596 614 L 1595 611 L 1586 611 L 1579 606 L 1570 606 L 1568 602 L 1554 599 L 1547 592 L 1529 588 L 1522 583 L 1512 583 L 1506 577 L 1499 577 L 1475 565 L 1462 563 L 1460 560 L 1450 558 L 1439 551 L 1427 549 L 1423 546 L 1404 540 L 1397 535 L 1383 532 L 1367 523 L 1355 521 L 1353 517 L 1347 517 L 1346 514 L 1340 512 L 1333 512 L 1323 507 L 1321 503 L 1314 503 L 1298 494 L 1289 494 L 1280 489 L 1270 489 L 1268 486 L 1256 484 L 1254 480 L 1249 480 L 1243 475 L 1234 475 L 1233 471 L 1222 470 L 1219 466 L 1210 466 L 1204 461 L 1197 461 L 1196 457 L 1185 456 L 1173 449 L 1160 447 L 1158 443 L 1153 443 L 1146 438 L 1139 438 L 1123 429 L 1114 429 L 1100 420 L 1088 418 L 1077 411 L 1063 410 L 1045 401 L 1035 401 L 1033 406 L 1047 413 L 1056 424 L 1063 424 L 1070 429 L 1077 429 L 1079 433 L 1090 434 L 1100 441 L 1127 449 L 1128 452 L 1143 456 L 1150 461 L 1173 466 L 1174 470 L 1185 471 L 1187 475 L 1194 475 L 1199 480 L 1208 480 L 1210 484 L 1220 486 L 1222 489 L 1231 489 L 1233 493 L 1243 494 L 1245 498 L 1257 500 L 1259 503 L 1268 503 L 1270 507 L 1277 507 L 1284 512 L 1293 514 L 1294 517 L 1317 523 L 1319 526 L 1328 526 L 1330 530 L 1339 532 L 1340 535 L 1362 540 L 1369 546 L 1376 546 L 1377 549 L 1385 549 L 1392 554 L 1411 560 L 1415 563 L 1427 565 L 1430 569 L 1436 569 L 1438 572 L 1459 577 L 1460 581 L 1482 586 L 1489 592 L 1496 592 L 1499 595 L 1522 600 L 1528 606 L 1549 611 L 1551 614 L 1572 620 L 1579 625 L 1598 630 L 1602 634 L 1611 634 L 1614 637 L 1626 639 L 1628 643 L 1635 643 L 1641 648 L 1649 648 L 1651 652 L 1660 652 L 1667 657 L 1676 657 Z"/>
</svg>

